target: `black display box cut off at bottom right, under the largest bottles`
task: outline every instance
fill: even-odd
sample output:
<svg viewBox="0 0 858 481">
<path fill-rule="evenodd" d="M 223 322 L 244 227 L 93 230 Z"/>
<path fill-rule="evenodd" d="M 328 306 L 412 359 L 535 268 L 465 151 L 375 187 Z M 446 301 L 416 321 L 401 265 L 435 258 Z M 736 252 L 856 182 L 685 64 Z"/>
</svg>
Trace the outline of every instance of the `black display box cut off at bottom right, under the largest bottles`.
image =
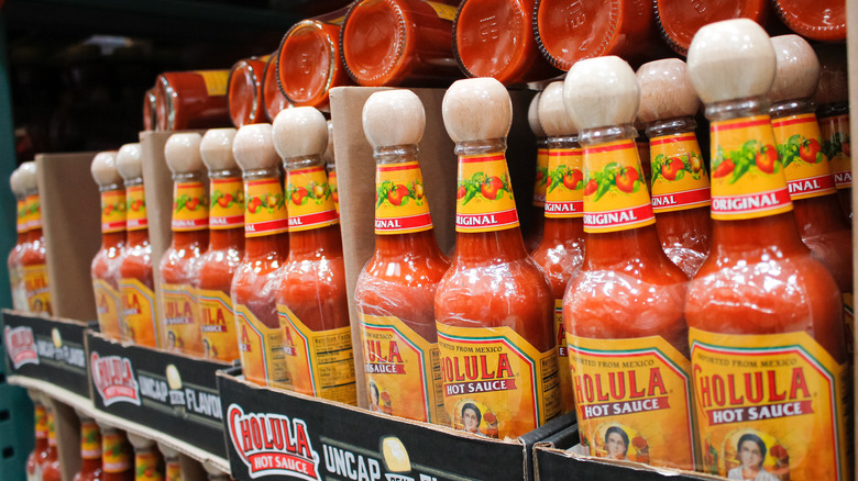
<svg viewBox="0 0 858 481">
<path fill-rule="evenodd" d="M 669 468 L 653 468 L 631 461 L 610 461 L 583 455 L 578 425 L 546 437 L 534 447 L 534 471 L 536 481 L 556 479 L 570 480 L 625 480 L 635 481 L 701 481 L 725 478 Z M 583 450 L 582 450 L 583 449 Z"/>
</svg>

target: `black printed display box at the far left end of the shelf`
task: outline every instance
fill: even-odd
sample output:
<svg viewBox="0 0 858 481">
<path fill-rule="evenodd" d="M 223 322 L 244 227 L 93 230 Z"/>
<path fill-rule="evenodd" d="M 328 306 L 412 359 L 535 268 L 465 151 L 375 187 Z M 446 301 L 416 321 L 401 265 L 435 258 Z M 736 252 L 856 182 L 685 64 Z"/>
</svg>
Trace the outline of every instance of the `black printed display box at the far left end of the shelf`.
<svg viewBox="0 0 858 481">
<path fill-rule="evenodd" d="M 3 310 L 9 376 L 51 382 L 89 399 L 87 323 Z"/>
</svg>

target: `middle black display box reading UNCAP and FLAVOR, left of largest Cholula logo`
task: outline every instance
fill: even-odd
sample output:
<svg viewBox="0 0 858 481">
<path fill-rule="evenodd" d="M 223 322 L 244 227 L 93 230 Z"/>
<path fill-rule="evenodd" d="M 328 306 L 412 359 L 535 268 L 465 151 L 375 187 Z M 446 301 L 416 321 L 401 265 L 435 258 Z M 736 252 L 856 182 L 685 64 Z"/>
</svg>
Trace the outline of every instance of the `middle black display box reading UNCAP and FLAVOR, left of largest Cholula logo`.
<svg viewBox="0 0 858 481">
<path fill-rule="evenodd" d="M 231 365 L 122 344 L 89 332 L 96 410 L 227 458 L 216 372 Z"/>
</svg>

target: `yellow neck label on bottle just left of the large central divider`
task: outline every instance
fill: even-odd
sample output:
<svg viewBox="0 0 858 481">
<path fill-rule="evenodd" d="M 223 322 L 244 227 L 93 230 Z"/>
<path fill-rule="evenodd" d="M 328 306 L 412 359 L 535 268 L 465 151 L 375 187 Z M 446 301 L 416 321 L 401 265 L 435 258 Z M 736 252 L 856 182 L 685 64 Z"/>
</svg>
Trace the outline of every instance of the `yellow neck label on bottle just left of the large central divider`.
<svg viewBox="0 0 858 481">
<path fill-rule="evenodd" d="M 289 232 L 340 223 L 324 167 L 289 170 L 286 174 L 286 195 L 289 199 Z"/>
</svg>

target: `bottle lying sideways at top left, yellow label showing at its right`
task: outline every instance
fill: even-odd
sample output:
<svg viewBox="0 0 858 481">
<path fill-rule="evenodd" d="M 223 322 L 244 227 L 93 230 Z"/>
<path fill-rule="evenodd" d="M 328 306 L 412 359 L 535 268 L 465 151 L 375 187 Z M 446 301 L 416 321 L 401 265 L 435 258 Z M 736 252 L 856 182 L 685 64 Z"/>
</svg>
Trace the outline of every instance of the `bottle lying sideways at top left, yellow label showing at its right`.
<svg viewBox="0 0 858 481">
<path fill-rule="evenodd" d="M 167 71 L 155 80 L 160 131 L 229 125 L 229 70 Z"/>
</svg>

